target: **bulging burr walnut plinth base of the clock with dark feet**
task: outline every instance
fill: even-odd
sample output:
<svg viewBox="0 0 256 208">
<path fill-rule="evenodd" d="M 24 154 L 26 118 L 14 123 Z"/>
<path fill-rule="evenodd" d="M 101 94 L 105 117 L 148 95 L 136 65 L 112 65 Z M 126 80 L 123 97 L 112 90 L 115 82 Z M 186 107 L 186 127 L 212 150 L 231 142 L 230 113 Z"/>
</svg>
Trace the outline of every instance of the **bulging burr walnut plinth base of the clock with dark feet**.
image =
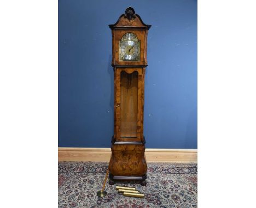
<svg viewBox="0 0 256 208">
<path fill-rule="evenodd" d="M 146 185 L 145 142 L 115 142 L 109 162 L 109 184 L 116 180 L 140 180 Z M 143 182 L 144 181 L 144 182 Z"/>
</svg>

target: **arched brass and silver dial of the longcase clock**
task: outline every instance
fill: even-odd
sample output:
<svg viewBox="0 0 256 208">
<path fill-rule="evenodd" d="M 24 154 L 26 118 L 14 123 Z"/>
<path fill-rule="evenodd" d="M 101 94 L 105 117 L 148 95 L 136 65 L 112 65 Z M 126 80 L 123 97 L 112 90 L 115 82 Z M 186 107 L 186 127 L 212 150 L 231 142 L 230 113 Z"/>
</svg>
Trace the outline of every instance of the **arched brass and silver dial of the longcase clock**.
<svg viewBox="0 0 256 208">
<path fill-rule="evenodd" d="M 138 61 L 140 42 L 133 33 L 126 33 L 119 42 L 119 60 Z"/>
</svg>

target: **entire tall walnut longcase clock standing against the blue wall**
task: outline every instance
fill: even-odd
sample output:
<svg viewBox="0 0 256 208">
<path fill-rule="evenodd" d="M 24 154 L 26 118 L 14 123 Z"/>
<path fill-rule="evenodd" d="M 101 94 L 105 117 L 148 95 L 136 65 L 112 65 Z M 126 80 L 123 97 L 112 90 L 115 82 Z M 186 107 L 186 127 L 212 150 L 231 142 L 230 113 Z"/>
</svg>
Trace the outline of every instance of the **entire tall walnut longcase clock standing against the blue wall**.
<svg viewBox="0 0 256 208">
<path fill-rule="evenodd" d="M 112 30 L 114 68 L 114 136 L 109 162 L 109 184 L 115 180 L 141 180 L 146 185 L 147 163 L 143 136 L 144 75 L 147 67 L 147 35 L 131 7 L 125 10 Z"/>
</svg>

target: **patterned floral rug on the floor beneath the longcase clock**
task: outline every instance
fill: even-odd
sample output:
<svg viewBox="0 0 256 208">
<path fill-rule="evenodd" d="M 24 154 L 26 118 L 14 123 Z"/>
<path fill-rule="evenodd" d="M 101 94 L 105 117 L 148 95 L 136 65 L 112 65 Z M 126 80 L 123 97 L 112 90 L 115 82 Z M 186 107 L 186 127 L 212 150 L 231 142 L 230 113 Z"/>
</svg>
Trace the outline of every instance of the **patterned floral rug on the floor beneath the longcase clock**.
<svg viewBox="0 0 256 208">
<path fill-rule="evenodd" d="M 59 207 L 197 207 L 196 163 L 148 163 L 147 186 L 139 182 L 106 183 L 105 197 L 96 192 L 102 188 L 108 163 L 60 162 Z M 118 194 L 116 185 L 133 186 L 144 198 L 130 198 Z"/>
</svg>

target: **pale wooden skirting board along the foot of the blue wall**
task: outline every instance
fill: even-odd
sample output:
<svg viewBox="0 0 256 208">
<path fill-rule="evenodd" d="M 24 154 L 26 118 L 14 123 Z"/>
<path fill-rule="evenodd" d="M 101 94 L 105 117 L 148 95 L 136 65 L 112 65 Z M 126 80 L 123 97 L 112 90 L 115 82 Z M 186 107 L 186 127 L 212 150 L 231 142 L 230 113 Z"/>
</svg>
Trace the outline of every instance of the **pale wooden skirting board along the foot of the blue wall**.
<svg viewBox="0 0 256 208">
<path fill-rule="evenodd" d="M 110 148 L 59 148 L 59 161 L 109 162 Z M 197 149 L 148 149 L 147 162 L 197 162 Z"/>
</svg>

